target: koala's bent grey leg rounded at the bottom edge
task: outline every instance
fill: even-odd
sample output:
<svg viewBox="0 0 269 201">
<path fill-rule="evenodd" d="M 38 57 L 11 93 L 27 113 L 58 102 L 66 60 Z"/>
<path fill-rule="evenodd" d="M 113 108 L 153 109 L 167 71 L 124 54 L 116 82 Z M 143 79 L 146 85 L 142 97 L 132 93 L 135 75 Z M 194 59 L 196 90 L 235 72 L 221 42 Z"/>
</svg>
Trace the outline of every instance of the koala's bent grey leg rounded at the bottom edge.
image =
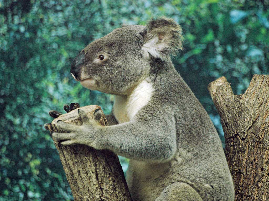
<svg viewBox="0 0 269 201">
<path fill-rule="evenodd" d="M 155 201 L 203 201 L 188 184 L 177 182 L 166 187 Z"/>
</svg>

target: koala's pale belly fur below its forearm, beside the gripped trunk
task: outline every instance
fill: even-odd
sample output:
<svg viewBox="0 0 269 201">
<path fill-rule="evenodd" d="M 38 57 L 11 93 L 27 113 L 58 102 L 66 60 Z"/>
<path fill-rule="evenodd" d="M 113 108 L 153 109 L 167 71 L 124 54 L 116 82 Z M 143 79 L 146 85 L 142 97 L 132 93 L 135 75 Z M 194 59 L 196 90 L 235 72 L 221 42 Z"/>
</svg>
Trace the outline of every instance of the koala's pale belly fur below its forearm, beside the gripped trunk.
<svg viewBox="0 0 269 201">
<path fill-rule="evenodd" d="M 133 201 L 154 201 L 166 186 L 160 177 L 168 168 L 168 163 L 130 160 L 126 181 Z"/>
</svg>

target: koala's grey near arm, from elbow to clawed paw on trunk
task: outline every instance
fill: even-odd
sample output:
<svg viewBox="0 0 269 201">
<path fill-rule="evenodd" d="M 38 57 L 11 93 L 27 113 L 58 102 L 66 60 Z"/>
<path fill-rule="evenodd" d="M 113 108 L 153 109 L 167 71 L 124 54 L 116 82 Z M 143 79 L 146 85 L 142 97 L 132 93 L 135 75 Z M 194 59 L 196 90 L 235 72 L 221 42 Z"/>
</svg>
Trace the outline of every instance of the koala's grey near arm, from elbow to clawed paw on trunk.
<svg viewBox="0 0 269 201">
<path fill-rule="evenodd" d="M 54 139 L 64 140 L 63 145 L 86 144 L 144 161 L 165 162 L 176 152 L 176 121 L 171 113 L 146 111 L 135 120 L 112 126 L 98 126 L 87 119 L 84 111 L 79 110 L 79 115 L 81 126 L 57 122 L 64 133 L 53 133 Z"/>
</svg>

